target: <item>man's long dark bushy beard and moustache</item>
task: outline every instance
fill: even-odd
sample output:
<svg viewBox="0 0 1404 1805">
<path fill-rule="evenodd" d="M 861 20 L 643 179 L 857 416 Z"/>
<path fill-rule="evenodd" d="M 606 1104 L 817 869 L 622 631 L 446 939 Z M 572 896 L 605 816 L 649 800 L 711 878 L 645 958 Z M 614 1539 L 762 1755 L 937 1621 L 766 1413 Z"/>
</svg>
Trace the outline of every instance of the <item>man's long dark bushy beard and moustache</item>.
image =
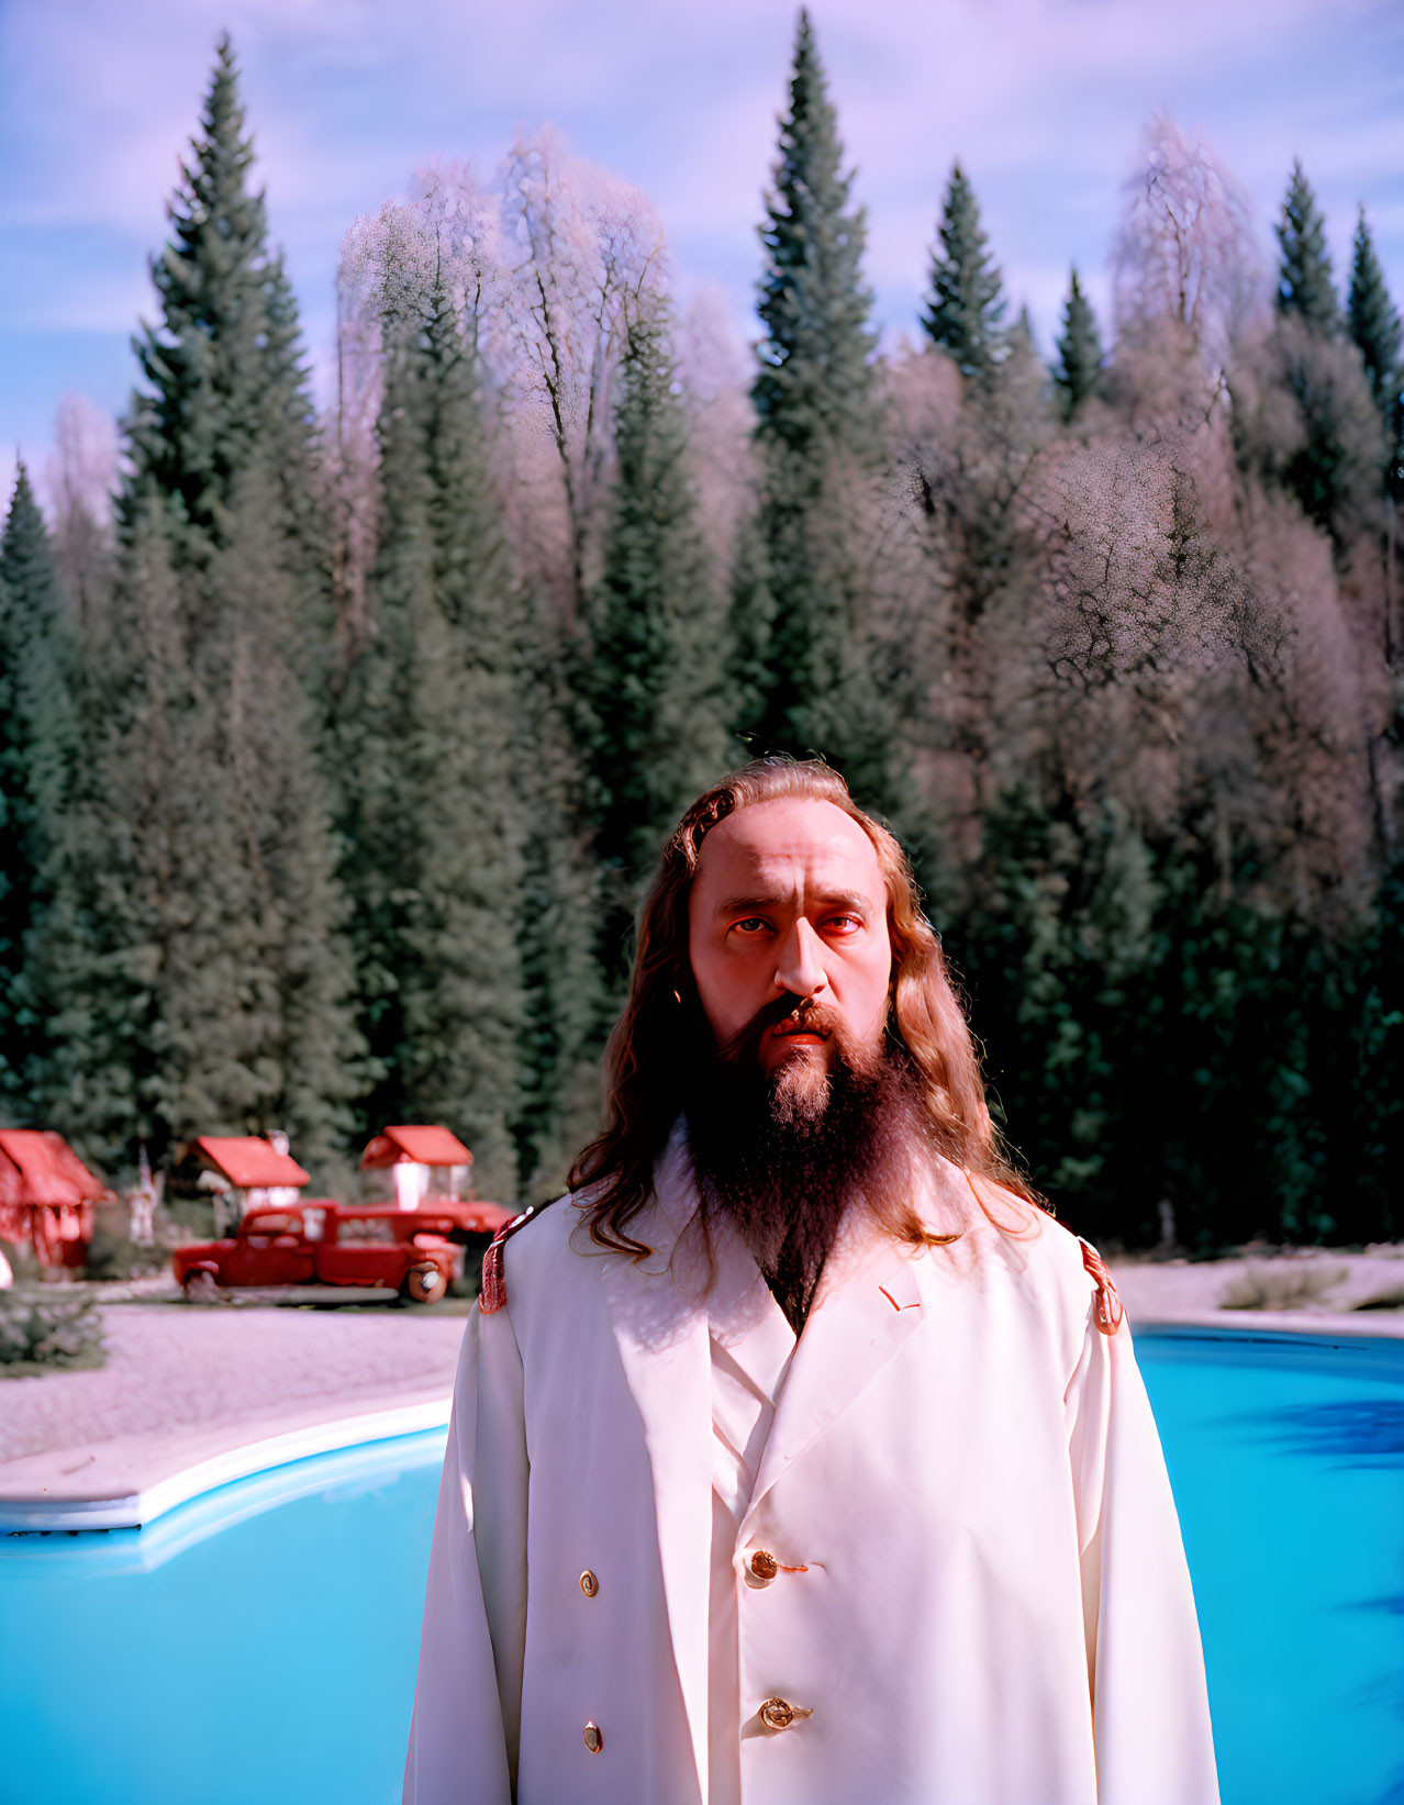
<svg viewBox="0 0 1404 1805">
<path fill-rule="evenodd" d="M 803 1022 L 834 1043 L 828 1070 L 796 1049 L 767 1072 L 760 1040 L 794 1011 L 778 996 L 725 1047 L 698 1052 L 684 1108 L 704 1229 L 734 1224 L 799 1332 L 850 1206 L 890 1215 L 910 1197 L 924 1137 L 906 1052 L 855 1047 L 823 1005 Z"/>
</svg>

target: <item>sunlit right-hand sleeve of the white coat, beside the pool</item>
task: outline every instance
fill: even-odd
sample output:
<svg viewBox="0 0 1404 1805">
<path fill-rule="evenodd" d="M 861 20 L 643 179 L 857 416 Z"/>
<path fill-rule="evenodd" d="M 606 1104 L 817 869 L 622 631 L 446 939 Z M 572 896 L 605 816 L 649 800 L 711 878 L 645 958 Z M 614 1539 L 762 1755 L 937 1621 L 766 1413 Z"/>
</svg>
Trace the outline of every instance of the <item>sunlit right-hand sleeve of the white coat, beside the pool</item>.
<svg viewBox="0 0 1404 1805">
<path fill-rule="evenodd" d="M 1097 1805 L 1216 1805 L 1195 1596 L 1124 1321 L 1088 1321 L 1067 1404 Z"/>
</svg>

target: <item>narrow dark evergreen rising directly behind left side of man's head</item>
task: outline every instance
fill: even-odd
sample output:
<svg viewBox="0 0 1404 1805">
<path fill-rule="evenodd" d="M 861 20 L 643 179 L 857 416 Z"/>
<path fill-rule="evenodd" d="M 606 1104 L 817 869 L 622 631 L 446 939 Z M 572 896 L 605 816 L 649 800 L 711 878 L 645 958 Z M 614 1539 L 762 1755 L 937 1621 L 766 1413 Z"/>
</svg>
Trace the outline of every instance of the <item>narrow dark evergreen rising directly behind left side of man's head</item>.
<svg viewBox="0 0 1404 1805">
<path fill-rule="evenodd" d="M 588 599 L 581 749 L 603 865 L 605 984 L 623 1002 L 639 886 L 691 798 L 733 762 L 722 727 L 722 621 L 677 393 L 668 318 L 630 325 L 615 417 L 605 570 Z"/>
</svg>

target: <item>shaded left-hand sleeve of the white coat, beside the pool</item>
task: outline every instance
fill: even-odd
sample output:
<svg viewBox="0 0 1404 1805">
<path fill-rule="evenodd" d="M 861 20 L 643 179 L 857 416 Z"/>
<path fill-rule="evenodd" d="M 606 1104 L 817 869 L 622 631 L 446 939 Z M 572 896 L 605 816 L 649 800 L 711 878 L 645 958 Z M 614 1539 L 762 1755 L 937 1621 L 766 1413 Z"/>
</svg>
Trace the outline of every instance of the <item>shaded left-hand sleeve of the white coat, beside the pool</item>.
<svg viewBox="0 0 1404 1805">
<path fill-rule="evenodd" d="M 404 1805 L 511 1805 L 525 1634 L 522 1356 L 507 1310 L 473 1310 L 430 1550 Z"/>
</svg>

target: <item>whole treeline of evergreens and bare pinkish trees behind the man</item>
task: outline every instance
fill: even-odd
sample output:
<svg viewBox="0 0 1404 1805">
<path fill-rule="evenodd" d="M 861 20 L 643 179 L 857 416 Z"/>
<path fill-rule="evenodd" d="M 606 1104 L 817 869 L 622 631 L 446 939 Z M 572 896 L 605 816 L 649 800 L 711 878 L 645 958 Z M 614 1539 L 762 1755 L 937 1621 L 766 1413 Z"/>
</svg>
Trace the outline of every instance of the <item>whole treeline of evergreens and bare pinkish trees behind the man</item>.
<svg viewBox="0 0 1404 1805">
<path fill-rule="evenodd" d="M 1088 1235 L 1399 1236 L 1400 327 L 1301 166 L 1258 267 L 1150 123 L 1056 359 L 967 173 L 879 354 L 801 13 L 742 368 L 628 184 L 520 137 L 346 233 L 318 415 L 227 40 L 110 525 L 0 552 L 0 1119 L 108 1177 L 444 1121 L 540 1200 L 641 884 L 753 753 L 911 848 L 1011 1143 Z M 1106 350 L 1103 347 L 1108 347 Z M 1393 1180 L 1393 1182 L 1391 1182 Z"/>
</svg>

